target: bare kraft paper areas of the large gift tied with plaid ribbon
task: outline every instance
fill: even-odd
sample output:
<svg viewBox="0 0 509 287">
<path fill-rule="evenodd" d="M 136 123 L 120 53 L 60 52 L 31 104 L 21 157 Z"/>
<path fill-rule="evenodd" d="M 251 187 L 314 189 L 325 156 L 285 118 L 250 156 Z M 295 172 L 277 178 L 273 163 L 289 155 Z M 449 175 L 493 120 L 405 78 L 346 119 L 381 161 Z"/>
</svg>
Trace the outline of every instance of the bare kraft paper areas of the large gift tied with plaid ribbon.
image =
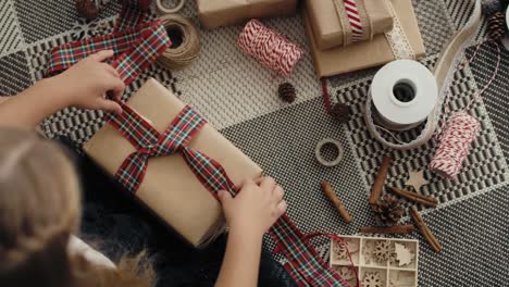
<svg viewBox="0 0 509 287">
<path fill-rule="evenodd" d="M 154 79 L 147 80 L 127 104 L 160 133 L 185 107 Z M 258 177 L 262 172 L 210 124 L 206 124 L 193 137 L 189 146 L 221 163 L 236 186 L 246 178 Z M 105 124 L 85 144 L 84 150 L 107 172 L 115 174 L 135 148 L 116 129 Z M 224 216 L 220 203 L 201 185 L 179 153 L 150 158 L 135 197 L 195 247 L 204 246 L 223 229 Z"/>
</svg>

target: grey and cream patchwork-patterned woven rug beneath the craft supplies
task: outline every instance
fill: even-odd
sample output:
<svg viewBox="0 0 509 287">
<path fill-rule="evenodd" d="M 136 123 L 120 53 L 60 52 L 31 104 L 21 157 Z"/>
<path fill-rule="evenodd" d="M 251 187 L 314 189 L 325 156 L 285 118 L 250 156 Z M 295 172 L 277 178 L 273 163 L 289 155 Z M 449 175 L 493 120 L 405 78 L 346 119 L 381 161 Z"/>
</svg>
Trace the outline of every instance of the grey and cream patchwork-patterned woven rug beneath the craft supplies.
<svg viewBox="0 0 509 287">
<path fill-rule="evenodd" d="M 115 1 L 113 1 L 115 2 Z M 198 24 L 189 1 L 185 14 Z M 468 20 L 465 0 L 413 0 L 427 50 L 422 62 L 432 67 L 443 45 Z M 0 2 L 0 95 L 15 95 L 44 76 L 47 57 L 54 46 L 111 30 L 117 3 L 110 3 L 98 21 L 78 20 L 71 0 L 2 0 Z M 370 186 L 383 155 L 394 164 L 388 183 L 404 186 L 409 171 L 426 169 L 436 142 L 411 151 L 384 149 L 368 133 L 362 104 L 376 68 L 328 80 L 333 101 L 348 103 L 353 116 L 345 125 L 326 113 L 321 87 L 314 75 L 301 18 L 274 18 L 266 25 L 298 42 L 308 51 L 290 82 L 298 100 L 284 104 L 276 97 L 281 78 L 246 58 L 235 46 L 241 26 L 202 32 L 202 54 L 189 68 L 170 72 L 152 65 L 132 84 L 127 95 L 148 77 L 154 77 L 199 110 L 216 128 L 276 177 L 287 191 L 289 215 L 305 230 L 355 234 L 374 224 L 368 205 Z M 476 41 L 485 34 L 481 27 Z M 475 42 L 472 42 L 474 45 Z M 472 48 L 467 54 L 472 53 Z M 456 73 L 452 107 L 461 109 L 482 88 L 496 61 L 494 47 L 485 46 L 477 59 Z M 439 207 L 425 210 L 424 220 L 442 241 L 444 251 L 431 251 L 421 236 L 420 286 L 509 286 L 509 52 L 502 52 L 501 74 L 472 109 L 482 122 L 458 180 L 445 180 L 430 172 L 422 192 L 436 197 Z M 50 137 L 70 136 L 85 142 L 103 124 L 101 112 L 78 109 L 61 111 L 42 124 Z M 315 144 L 325 137 L 340 140 L 342 164 L 320 166 Z M 327 179 L 344 199 L 355 221 L 342 222 L 320 190 Z M 408 221 L 408 219 L 405 219 Z M 270 245 L 270 242 L 268 242 Z"/>
</svg>

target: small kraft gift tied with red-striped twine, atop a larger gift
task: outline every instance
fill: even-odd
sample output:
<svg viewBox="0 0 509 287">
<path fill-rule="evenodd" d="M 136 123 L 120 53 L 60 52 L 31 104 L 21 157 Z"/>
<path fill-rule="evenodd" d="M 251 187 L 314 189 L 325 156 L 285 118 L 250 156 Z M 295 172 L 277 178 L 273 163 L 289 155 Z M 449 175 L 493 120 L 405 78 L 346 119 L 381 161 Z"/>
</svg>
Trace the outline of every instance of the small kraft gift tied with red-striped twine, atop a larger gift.
<svg viewBox="0 0 509 287">
<path fill-rule="evenodd" d="M 307 0 L 306 9 L 321 50 L 372 40 L 393 29 L 393 15 L 384 0 Z"/>
</svg>

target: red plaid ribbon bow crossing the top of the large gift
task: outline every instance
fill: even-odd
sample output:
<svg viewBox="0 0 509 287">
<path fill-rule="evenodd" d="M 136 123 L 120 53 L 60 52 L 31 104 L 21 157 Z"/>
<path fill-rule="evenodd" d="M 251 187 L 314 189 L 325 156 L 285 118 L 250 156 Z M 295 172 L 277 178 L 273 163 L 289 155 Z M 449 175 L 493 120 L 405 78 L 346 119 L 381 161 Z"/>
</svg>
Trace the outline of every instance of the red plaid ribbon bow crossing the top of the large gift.
<svg viewBox="0 0 509 287">
<path fill-rule="evenodd" d="M 193 136 L 207 121 L 186 105 L 163 134 L 144 120 L 128 105 L 121 103 L 123 113 L 110 118 L 117 129 L 135 148 L 115 174 L 116 179 L 129 191 L 136 192 L 144 180 L 148 160 L 181 153 L 200 183 L 216 196 L 219 190 L 235 195 L 236 187 L 226 175 L 223 166 L 215 160 L 188 147 Z"/>
</svg>

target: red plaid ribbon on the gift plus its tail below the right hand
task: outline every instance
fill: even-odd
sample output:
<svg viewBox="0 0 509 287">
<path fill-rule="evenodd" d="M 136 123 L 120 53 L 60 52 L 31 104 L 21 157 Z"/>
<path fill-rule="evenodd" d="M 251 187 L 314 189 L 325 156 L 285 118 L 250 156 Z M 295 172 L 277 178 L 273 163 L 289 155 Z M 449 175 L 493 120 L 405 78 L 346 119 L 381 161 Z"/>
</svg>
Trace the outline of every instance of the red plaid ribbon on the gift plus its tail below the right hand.
<svg viewBox="0 0 509 287">
<path fill-rule="evenodd" d="M 233 196 L 238 189 L 221 164 L 203 153 L 188 147 L 193 136 L 207 123 L 188 105 L 173 120 L 163 134 L 160 134 L 146 120 L 128 105 L 124 112 L 111 117 L 110 124 L 117 129 L 137 150 L 129 154 L 115 174 L 128 190 L 136 192 L 152 157 L 181 153 L 200 183 L 218 198 L 219 190 Z M 327 265 L 309 245 L 306 236 L 285 214 L 269 230 L 289 261 L 285 267 L 299 286 L 344 286 L 339 274 Z"/>
</svg>

